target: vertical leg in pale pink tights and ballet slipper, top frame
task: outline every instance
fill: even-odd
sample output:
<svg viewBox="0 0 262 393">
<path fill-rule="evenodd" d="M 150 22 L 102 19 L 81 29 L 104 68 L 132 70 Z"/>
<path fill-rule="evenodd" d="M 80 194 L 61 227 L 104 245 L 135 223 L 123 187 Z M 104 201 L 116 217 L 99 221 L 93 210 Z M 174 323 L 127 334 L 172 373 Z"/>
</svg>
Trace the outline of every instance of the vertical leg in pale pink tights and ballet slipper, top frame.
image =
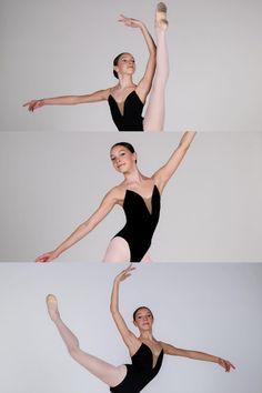
<svg viewBox="0 0 262 393">
<path fill-rule="evenodd" d="M 144 131 L 162 131 L 164 125 L 164 93 L 169 75 L 169 54 L 165 32 L 168 28 L 167 7 L 160 2 L 155 12 L 157 70 L 150 93 L 149 105 L 143 120 Z"/>
</svg>

